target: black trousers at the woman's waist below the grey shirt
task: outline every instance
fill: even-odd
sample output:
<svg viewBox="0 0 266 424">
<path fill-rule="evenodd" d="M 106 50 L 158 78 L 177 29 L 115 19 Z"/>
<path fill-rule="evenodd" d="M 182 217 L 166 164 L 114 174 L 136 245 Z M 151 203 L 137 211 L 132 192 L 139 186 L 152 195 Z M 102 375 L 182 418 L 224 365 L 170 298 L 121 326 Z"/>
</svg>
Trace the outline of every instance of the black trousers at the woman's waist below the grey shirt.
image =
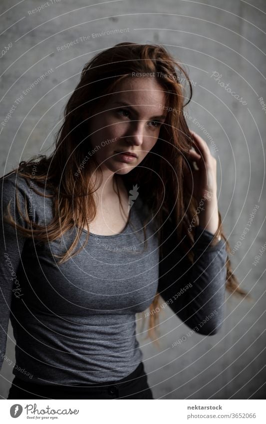
<svg viewBox="0 0 266 424">
<path fill-rule="evenodd" d="M 40 385 L 17 377 L 7 399 L 153 399 L 143 363 L 122 380 L 86 386 Z"/>
</svg>

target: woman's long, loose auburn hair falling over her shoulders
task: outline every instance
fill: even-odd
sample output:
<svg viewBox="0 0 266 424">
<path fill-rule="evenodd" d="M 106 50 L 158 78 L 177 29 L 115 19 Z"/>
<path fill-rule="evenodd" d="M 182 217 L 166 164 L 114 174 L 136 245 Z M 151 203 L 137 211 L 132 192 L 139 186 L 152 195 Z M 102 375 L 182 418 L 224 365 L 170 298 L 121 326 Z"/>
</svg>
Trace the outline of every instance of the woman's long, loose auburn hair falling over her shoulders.
<svg viewBox="0 0 266 424">
<path fill-rule="evenodd" d="M 32 222 L 27 211 L 23 216 L 27 224 L 26 228 L 20 226 L 12 219 L 8 209 L 8 222 L 24 237 L 33 235 L 35 240 L 52 241 L 72 229 L 73 225 L 77 226 L 76 237 L 65 254 L 59 257 L 58 264 L 65 262 L 85 247 L 89 231 L 84 245 L 74 252 L 82 228 L 85 224 L 89 226 L 89 222 L 96 215 L 93 197 L 96 189 L 92 185 L 90 176 L 96 168 L 101 173 L 99 164 L 92 155 L 78 176 L 75 172 L 80 168 L 88 152 L 89 121 L 93 119 L 95 106 L 99 102 L 104 102 L 109 94 L 115 92 L 116 84 L 131 76 L 133 72 L 154 75 L 166 95 L 168 112 L 160 128 L 158 140 L 141 162 L 141 166 L 136 166 L 122 177 L 127 189 L 141 182 L 139 195 L 145 199 L 146 205 L 153 211 L 159 224 L 160 246 L 163 246 L 162 241 L 165 236 L 164 223 L 171 217 L 177 240 L 180 241 L 180 246 L 189 261 L 193 263 L 194 255 L 191 247 L 194 243 L 194 229 L 199 222 L 196 212 L 198 204 L 196 199 L 188 194 L 183 178 L 185 155 L 193 145 L 184 116 L 184 107 L 192 97 L 192 84 L 187 71 L 161 45 L 121 42 L 99 52 L 85 64 L 80 81 L 64 108 L 63 123 L 55 135 L 55 149 L 52 154 L 49 157 L 38 155 L 37 165 L 34 158 L 21 161 L 16 169 L 8 173 L 15 171 L 28 181 L 34 168 L 34 181 L 40 187 L 45 187 L 45 190 L 52 191 L 51 194 L 45 192 L 43 194 L 32 187 L 39 195 L 54 199 L 53 219 L 45 227 Z M 182 81 L 185 83 L 182 84 Z M 189 95 L 186 93 L 188 87 Z M 116 181 L 115 178 L 114 181 Z M 118 197 L 121 205 L 119 190 Z M 215 236 L 221 235 L 229 253 L 231 248 L 223 232 L 221 214 L 218 213 L 219 228 Z M 189 231 L 193 219 L 196 219 L 195 226 L 192 231 L 191 228 Z M 217 241 L 217 237 L 214 237 L 212 244 L 216 244 Z M 163 247 L 161 252 L 163 254 Z M 226 288 L 232 293 L 246 296 L 247 293 L 239 287 L 238 280 L 233 274 L 229 257 L 227 257 L 226 268 Z M 152 313 L 149 314 L 148 336 L 151 339 L 154 339 L 154 336 L 157 337 L 159 314 L 154 312 L 158 310 L 159 302 L 160 294 L 157 292 L 149 307 Z"/>
</svg>

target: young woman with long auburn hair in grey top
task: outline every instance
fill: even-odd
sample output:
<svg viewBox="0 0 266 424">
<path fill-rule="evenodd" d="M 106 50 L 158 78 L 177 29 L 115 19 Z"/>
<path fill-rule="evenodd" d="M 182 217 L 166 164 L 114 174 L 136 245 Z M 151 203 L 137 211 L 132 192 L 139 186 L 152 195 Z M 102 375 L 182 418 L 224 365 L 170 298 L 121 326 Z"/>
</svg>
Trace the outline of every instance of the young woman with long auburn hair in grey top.
<svg viewBox="0 0 266 424">
<path fill-rule="evenodd" d="M 119 43 L 85 65 L 53 153 L 1 178 L 1 361 L 9 318 L 16 341 L 8 399 L 153 399 L 135 315 L 150 309 L 154 340 L 167 304 L 212 335 L 225 289 L 245 294 L 216 159 L 184 117 L 191 95 L 163 47 Z"/>
</svg>

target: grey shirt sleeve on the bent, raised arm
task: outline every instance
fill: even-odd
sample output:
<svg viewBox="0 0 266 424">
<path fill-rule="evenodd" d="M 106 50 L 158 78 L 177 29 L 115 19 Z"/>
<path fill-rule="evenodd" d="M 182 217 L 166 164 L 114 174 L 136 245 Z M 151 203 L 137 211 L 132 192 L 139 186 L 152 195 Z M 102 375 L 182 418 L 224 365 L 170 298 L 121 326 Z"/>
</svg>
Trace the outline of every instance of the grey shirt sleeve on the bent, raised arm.
<svg viewBox="0 0 266 424">
<path fill-rule="evenodd" d="M 172 311 L 192 330 L 209 336 L 223 323 L 227 274 L 226 242 L 221 239 L 211 246 L 213 238 L 203 227 L 195 228 L 193 264 L 172 238 L 170 253 L 159 264 L 158 283 Z"/>
</svg>

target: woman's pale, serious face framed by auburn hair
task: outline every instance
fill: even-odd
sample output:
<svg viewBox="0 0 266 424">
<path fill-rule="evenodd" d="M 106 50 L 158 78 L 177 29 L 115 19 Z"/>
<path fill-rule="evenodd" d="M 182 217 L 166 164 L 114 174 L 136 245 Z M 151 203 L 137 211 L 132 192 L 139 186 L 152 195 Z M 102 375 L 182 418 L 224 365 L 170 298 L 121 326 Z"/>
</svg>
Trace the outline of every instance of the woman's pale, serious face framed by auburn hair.
<svg viewBox="0 0 266 424">
<path fill-rule="evenodd" d="M 115 91 L 90 121 L 89 155 L 95 155 L 103 170 L 126 174 L 140 164 L 158 139 L 166 117 L 165 93 L 151 76 L 125 78 Z"/>
</svg>

